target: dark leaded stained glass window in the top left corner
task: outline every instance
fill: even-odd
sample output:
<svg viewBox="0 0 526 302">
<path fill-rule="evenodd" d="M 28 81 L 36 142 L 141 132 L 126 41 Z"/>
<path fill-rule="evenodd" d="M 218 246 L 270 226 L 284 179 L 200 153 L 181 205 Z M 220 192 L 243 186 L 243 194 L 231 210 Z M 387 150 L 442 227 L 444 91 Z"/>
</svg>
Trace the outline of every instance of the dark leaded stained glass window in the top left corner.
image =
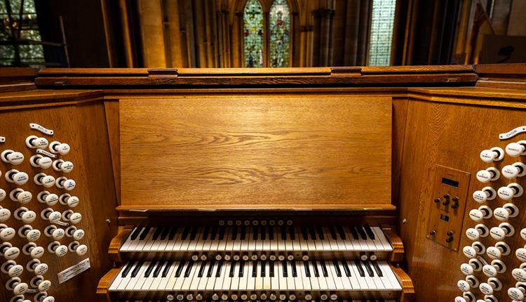
<svg viewBox="0 0 526 302">
<path fill-rule="evenodd" d="M 43 65 L 42 46 L 32 44 L 41 41 L 34 0 L 0 0 L 0 40 L 7 42 L 0 46 L 0 65 Z"/>
</svg>

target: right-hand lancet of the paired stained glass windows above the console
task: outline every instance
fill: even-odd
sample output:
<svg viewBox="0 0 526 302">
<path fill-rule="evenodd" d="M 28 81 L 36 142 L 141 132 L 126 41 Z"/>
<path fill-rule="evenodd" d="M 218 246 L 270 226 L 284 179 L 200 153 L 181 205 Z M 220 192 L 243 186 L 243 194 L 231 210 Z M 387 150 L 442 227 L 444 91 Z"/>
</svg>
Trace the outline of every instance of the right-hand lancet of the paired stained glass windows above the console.
<svg viewBox="0 0 526 302">
<path fill-rule="evenodd" d="M 290 11 L 287 1 L 274 0 L 270 7 L 270 66 L 288 67 Z"/>
</svg>

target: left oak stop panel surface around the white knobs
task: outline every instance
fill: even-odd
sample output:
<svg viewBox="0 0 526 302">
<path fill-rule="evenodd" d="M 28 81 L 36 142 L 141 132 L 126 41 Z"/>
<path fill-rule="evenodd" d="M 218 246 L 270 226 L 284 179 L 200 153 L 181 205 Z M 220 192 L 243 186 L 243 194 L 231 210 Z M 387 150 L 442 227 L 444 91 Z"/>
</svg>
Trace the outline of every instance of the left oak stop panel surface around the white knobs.
<svg viewBox="0 0 526 302">
<path fill-rule="evenodd" d="M 12 96 L 13 94 L 10 93 L 10 95 Z M 43 96 L 46 95 L 46 93 L 43 93 Z M 66 101 L 67 99 L 64 100 Z M 46 100 L 43 101 L 45 102 Z M 13 100 L 13 102 L 16 102 L 16 100 Z M 25 207 L 35 211 L 38 215 L 36 220 L 31 223 L 33 228 L 42 232 L 43 228 L 49 224 L 39 217 L 40 211 L 48 206 L 36 200 L 37 193 L 44 190 L 44 188 L 33 183 L 33 176 L 43 171 L 55 176 L 55 178 L 64 175 L 67 178 L 76 180 L 76 188 L 69 193 L 78 196 L 80 199 L 80 204 L 74 208 L 74 211 L 81 213 L 83 218 L 76 226 L 86 232 L 81 244 L 88 245 L 88 254 L 86 256 L 77 256 L 69 252 L 66 256 L 58 258 L 55 254 L 50 254 L 46 250 L 41 261 L 49 265 L 49 270 L 45 277 L 52 282 L 53 286 L 48 293 L 55 296 L 57 301 L 74 301 L 79 296 L 95 301 L 97 299 L 95 296 L 97 281 L 103 273 L 111 268 L 111 263 L 109 263 L 106 253 L 107 244 L 113 234 L 112 227 L 104 219 L 107 218 L 107 214 L 115 213 L 113 208 L 116 205 L 111 165 L 109 164 L 109 152 L 107 149 L 104 149 L 104 145 L 107 145 L 107 132 L 104 124 L 100 124 L 101 121 L 102 123 L 104 122 L 102 100 L 85 105 L 27 107 L 25 109 L 2 107 L 2 109 L 4 110 L 0 111 L 0 119 L 2 120 L 2 123 L 0 123 L 0 135 L 6 137 L 6 143 L 0 145 L 0 150 L 12 149 L 20 151 L 25 155 L 25 160 L 17 166 L 0 162 L 0 170 L 4 172 L 8 169 L 25 171 L 29 174 L 29 182 L 25 185 L 17 186 L 6 182 L 5 178 L 2 177 L 0 188 L 3 188 L 6 192 L 11 192 L 14 188 L 23 188 L 32 192 L 33 199 Z M 30 122 L 53 129 L 55 134 L 53 136 L 45 136 L 38 131 L 31 130 L 29 129 Z M 40 169 L 30 166 L 29 157 L 34 154 L 34 149 L 29 149 L 25 146 L 25 138 L 32 134 L 45 136 L 50 142 L 58 140 L 68 143 L 72 147 L 72 151 L 68 155 L 60 156 L 60 158 L 72 161 L 74 163 L 73 171 L 63 174 L 53 169 Z M 46 190 L 58 195 L 65 192 L 55 187 L 47 188 Z M 12 202 L 7 197 L 1 206 L 10 209 L 13 213 L 20 204 Z M 67 209 L 67 206 L 60 204 L 50 207 L 57 211 L 65 211 Z M 114 221 L 116 222 L 116 220 Z M 11 216 L 6 221 L 6 224 L 18 230 L 23 223 Z M 41 235 L 36 244 L 46 249 L 52 241 L 50 237 Z M 72 238 L 64 237 L 60 242 L 67 245 L 69 242 L 72 242 Z M 22 239 L 17 235 L 11 240 L 11 243 L 21 248 L 23 244 L 27 243 L 27 239 Z M 92 265 L 90 270 L 64 284 L 58 284 L 58 272 L 88 256 Z M 29 261 L 29 256 L 21 255 L 16 261 L 25 265 Z M 0 275 L 0 282 L 4 283 L 6 275 Z M 32 275 L 34 273 L 25 271 L 21 278 L 24 282 L 29 282 Z M 26 297 L 32 298 L 32 294 L 27 294 Z M 1 301 L 9 301 L 10 298 L 10 292 L 6 290 L 0 291 Z"/>
</svg>

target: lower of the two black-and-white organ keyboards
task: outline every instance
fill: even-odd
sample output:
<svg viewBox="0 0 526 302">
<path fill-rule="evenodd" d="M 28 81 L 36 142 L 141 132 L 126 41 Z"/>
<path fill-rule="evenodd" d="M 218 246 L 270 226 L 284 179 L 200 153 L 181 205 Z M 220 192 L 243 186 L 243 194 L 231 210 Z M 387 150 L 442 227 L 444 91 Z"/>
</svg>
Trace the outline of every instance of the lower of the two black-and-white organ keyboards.
<svg viewBox="0 0 526 302">
<path fill-rule="evenodd" d="M 359 260 L 130 261 L 109 287 L 123 298 L 177 301 L 394 298 L 401 290 L 388 263 Z"/>
</svg>

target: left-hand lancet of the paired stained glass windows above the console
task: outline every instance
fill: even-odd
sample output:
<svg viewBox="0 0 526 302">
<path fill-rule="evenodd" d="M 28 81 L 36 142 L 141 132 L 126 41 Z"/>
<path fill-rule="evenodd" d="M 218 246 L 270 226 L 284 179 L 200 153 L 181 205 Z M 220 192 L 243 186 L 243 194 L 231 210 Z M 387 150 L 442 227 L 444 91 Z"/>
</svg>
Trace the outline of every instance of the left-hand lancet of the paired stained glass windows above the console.
<svg viewBox="0 0 526 302">
<path fill-rule="evenodd" d="M 263 67 L 263 8 L 258 0 L 248 0 L 243 11 L 245 67 Z"/>
</svg>

